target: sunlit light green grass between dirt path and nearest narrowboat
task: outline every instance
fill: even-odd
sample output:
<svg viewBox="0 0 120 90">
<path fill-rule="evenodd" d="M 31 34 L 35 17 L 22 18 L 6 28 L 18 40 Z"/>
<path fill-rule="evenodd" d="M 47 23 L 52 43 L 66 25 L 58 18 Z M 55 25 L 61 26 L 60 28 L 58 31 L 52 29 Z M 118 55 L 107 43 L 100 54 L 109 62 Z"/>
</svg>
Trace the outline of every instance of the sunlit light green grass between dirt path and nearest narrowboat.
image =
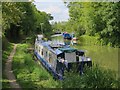
<svg viewBox="0 0 120 90">
<path fill-rule="evenodd" d="M 58 81 L 33 59 L 29 44 L 19 44 L 13 60 L 13 71 L 22 88 L 56 88 Z"/>
</svg>

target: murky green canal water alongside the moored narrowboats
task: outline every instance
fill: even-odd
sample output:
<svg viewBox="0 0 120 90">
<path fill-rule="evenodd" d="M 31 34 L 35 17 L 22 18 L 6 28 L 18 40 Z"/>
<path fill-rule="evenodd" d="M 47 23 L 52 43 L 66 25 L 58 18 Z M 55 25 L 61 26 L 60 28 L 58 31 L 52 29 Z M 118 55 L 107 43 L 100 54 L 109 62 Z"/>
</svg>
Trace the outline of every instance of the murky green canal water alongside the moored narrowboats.
<svg viewBox="0 0 120 90">
<path fill-rule="evenodd" d="M 52 41 L 54 43 L 64 43 L 61 35 L 52 37 Z M 118 72 L 118 48 L 95 45 L 73 45 L 72 47 L 85 50 L 86 56 L 91 57 L 93 64 Z"/>
</svg>

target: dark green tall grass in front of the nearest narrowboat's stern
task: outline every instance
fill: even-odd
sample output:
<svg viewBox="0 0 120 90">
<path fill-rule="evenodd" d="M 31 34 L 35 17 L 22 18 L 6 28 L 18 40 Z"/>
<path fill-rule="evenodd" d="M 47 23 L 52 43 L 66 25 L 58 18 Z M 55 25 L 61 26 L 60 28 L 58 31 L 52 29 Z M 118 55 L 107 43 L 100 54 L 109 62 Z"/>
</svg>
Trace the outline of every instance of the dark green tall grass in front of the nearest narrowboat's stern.
<svg viewBox="0 0 120 90">
<path fill-rule="evenodd" d="M 66 73 L 63 88 L 118 88 L 114 72 L 95 65 L 85 68 L 84 74 Z"/>
</svg>

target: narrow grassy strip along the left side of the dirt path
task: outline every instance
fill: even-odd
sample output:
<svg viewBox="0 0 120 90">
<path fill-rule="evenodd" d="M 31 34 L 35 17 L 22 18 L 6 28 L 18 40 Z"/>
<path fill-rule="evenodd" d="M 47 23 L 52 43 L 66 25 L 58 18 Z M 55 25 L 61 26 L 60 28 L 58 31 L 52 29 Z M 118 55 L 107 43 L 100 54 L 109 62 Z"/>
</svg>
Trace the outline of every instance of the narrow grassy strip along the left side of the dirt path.
<svg viewBox="0 0 120 90">
<path fill-rule="evenodd" d="M 13 44 L 8 43 L 4 51 L 2 51 L 2 88 L 10 88 L 9 80 L 4 75 L 5 63 L 13 49 Z"/>
</svg>

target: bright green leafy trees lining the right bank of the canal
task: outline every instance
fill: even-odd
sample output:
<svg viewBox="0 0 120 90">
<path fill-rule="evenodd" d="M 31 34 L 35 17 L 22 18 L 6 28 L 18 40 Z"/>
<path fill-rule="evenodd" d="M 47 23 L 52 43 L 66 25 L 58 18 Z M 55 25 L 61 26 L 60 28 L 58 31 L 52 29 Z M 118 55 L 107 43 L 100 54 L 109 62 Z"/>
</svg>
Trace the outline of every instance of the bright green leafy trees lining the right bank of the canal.
<svg viewBox="0 0 120 90">
<path fill-rule="evenodd" d="M 68 2 L 67 6 L 70 19 L 65 25 L 55 23 L 57 29 L 77 36 L 97 36 L 102 45 L 120 47 L 119 2 Z"/>
</svg>

